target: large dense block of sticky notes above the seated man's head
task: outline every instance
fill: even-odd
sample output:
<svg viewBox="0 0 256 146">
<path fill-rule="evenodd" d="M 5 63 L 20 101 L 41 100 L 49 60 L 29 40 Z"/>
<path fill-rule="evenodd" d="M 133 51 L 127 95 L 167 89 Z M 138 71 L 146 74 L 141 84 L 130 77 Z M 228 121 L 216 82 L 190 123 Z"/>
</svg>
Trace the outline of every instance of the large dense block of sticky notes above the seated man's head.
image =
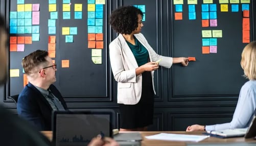
<svg viewBox="0 0 256 146">
<path fill-rule="evenodd" d="M 39 4 L 17 1 L 17 11 L 10 11 L 10 52 L 24 52 L 25 44 L 39 41 Z"/>
</svg>

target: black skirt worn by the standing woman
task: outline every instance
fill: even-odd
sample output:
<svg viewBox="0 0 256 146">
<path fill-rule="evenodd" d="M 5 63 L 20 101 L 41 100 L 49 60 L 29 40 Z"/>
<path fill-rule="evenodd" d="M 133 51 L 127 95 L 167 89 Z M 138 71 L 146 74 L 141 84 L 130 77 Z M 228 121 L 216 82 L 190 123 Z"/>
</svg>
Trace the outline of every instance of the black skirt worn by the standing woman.
<svg viewBox="0 0 256 146">
<path fill-rule="evenodd" d="M 151 72 L 142 74 L 142 96 L 135 105 L 119 104 L 120 128 L 143 128 L 153 124 L 154 91 Z"/>
</svg>

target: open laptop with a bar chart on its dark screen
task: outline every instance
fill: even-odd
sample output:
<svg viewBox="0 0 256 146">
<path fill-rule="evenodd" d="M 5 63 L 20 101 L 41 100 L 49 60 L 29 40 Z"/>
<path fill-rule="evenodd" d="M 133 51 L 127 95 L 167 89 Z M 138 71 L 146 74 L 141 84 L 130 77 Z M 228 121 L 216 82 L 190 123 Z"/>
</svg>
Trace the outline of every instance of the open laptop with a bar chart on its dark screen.
<svg viewBox="0 0 256 146">
<path fill-rule="evenodd" d="M 97 135 L 112 137 L 110 111 L 54 111 L 53 145 L 87 145 Z"/>
</svg>

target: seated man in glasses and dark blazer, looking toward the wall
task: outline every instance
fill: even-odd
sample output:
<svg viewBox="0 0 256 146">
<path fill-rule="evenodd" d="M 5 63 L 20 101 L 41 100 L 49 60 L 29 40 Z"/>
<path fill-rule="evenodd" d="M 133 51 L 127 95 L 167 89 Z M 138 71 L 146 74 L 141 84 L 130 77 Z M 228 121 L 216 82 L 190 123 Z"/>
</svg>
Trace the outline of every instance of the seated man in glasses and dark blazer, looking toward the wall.
<svg viewBox="0 0 256 146">
<path fill-rule="evenodd" d="M 39 131 L 49 131 L 52 112 L 67 109 L 62 95 L 53 85 L 56 64 L 53 64 L 48 52 L 41 50 L 26 56 L 21 64 L 29 83 L 19 94 L 17 112 Z"/>
</svg>

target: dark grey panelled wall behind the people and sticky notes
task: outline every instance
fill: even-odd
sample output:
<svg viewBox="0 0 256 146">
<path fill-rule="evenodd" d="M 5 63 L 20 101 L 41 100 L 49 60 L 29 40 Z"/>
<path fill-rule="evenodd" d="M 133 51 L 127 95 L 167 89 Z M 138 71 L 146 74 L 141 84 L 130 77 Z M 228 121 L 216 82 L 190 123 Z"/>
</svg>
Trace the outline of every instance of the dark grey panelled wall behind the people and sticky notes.
<svg viewBox="0 0 256 146">
<path fill-rule="evenodd" d="M 16 0 L 1 1 L 1 13 L 6 15 L 9 25 L 9 11 L 16 11 Z M 72 2 L 72 0 L 71 0 Z M 48 50 L 48 1 L 27 0 L 25 3 L 40 4 L 40 41 L 25 46 L 25 52 L 9 53 L 8 69 L 19 68 L 20 61 L 30 52 Z M 188 19 L 187 1 L 183 4 L 183 20 L 174 20 L 175 6 L 169 0 L 110 1 L 104 5 L 104 49 L 102 64 L 93 64 L 91 51 L 87 48 L 87 1 L 83 4 L 83 20 L 63 20 L 62 1 L 57 0 L 59 19 L 56 20 L 56 64 L 58 71 L 55 85 L 61 91 L 72 110 L 112 109 L 115 128 L 119 128 L 119 109 L 116 99 L 117 84 L 112 78 L 108 58 L 108 44 L 117 34 L 108 25 L 108 16 L 119 6 L 146 5 L 146 21 L 142 33 L 154 50 L 170 57 L 196 57 L 188 67 L 174 64 L 172 68 L 160 67 L 155 73 L 154 124 L 149 130 L 182 131 L 191 124 L 216 124 L 228 122 L 235 110 L 241 86 L 246 82 L 240 66 L 242 43 L 242 12 L 220 12 L 217 4 L 218 27 L 201 27 L 201 1 L 196 5 L 196 20 Z M 255 40 L 255 4 L 250 3 L 250 40 Z M 74 9 L 73 9 L 74 10 Z M 73 15 L 72 15 L 73 16 Z M 74 43 L 65 43 L 61 27 L 78 27 Z M 222 30 L 218 38 L 217 54 L 202 54 L 202 30 Z M 61 68 L 61 60 L 69 59 L 69 68 Z M 21 74 L 22 75 L 22 74 Z M 14 103 L 7 97 L 18 94 L 23 88 L 23 79 L 9 78 L 0 87 L 0 102 L 16 111 Z"/>
</svg>

